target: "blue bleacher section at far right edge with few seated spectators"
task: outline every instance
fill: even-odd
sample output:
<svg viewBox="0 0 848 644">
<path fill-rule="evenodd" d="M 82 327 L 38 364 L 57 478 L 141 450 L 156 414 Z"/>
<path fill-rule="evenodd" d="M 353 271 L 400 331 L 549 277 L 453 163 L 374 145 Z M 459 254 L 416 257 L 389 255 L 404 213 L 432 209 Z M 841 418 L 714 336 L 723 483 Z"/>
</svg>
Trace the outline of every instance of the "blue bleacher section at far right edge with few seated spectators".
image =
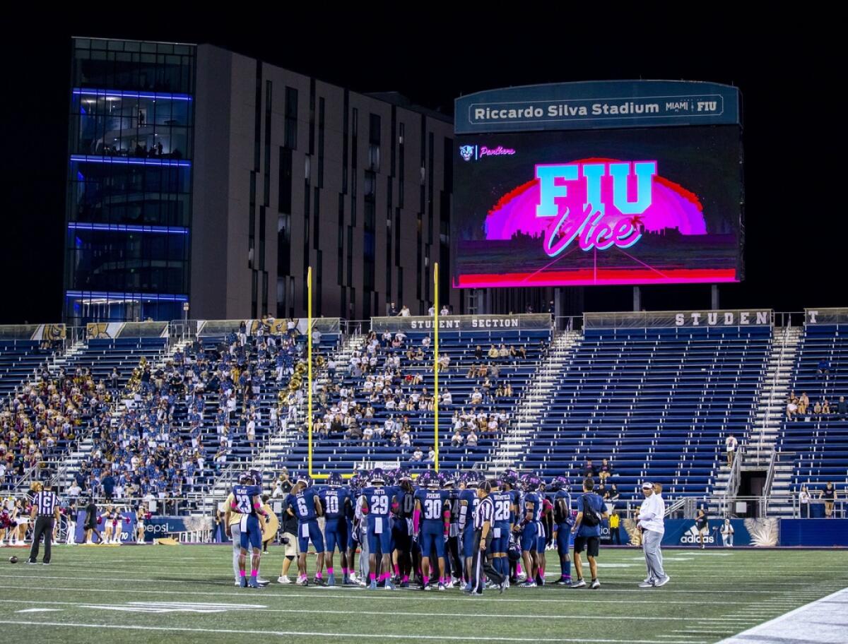
<svg viewBox="0 0 848 644">
<path fill-rule="evenodd" d="M 795 400 L 784 401 L 769 513 L 797 514 L 798 495 L 806 486 L 814 501 L 812 514 L 823 516 L 817 499 L 828 482 L 838 498 L 844 500 L 848 493 L 848 309 L 806 311 L 789 390 Z M 789 402 L 797 407 L 791 420 Z M 838 502 L 836 510 L 844 516 L 845 504 Z"/>
</svg>

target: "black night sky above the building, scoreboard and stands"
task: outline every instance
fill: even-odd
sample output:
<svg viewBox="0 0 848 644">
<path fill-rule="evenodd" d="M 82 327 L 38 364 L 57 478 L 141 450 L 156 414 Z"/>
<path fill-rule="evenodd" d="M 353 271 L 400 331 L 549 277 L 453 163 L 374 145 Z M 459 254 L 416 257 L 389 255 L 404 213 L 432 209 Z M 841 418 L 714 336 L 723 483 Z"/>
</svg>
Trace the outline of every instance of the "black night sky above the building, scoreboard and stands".
<svg viewBox="0 0 848 644">
<path fill-rule="evenodd" d="M 706 7 L 681 3 L 673 12 L 609 5 L 583 16 L 547 8 L 510 14 L 508 5 L 496 14 L 494 5 L 488 12 L 469 5 L 477 10 L 466 15 L 405 6 L 369 3 L 340 13 L 327 4 L 297 13 L 287 3 L 284 12 L 266 14 L 256 5 L 243 23 L 211 3 L 182 14 L 139 5 L 121 15 L 90 5 L 77 14 L 45 8 L 36 17 L 4 16 L 0 323 L 61 315 L 70 36 L 211 42 L 355 91 L 398 91 L 447 114 L 460 93 L 510 85 L 630 78 L 734 84 L 743 97 L 747 279 L 721 286 L 722 308 L 848 304 L 840 247 L 848 226 L 832 197 L 845 178 L 829 163 L 845 147 L 836 100 L 844 54 L 840 38 L 826 33 L 826 17 L 810 27 L 815 17 L 774 8 L 744 19 L 729 11 L 702 15 Z M 708 286 L 643 287 L 642 297 L 649 309 L 710 304 Z M 632 291 L 588 288 L 585 306 L 628 310 Z"/>
</svg>

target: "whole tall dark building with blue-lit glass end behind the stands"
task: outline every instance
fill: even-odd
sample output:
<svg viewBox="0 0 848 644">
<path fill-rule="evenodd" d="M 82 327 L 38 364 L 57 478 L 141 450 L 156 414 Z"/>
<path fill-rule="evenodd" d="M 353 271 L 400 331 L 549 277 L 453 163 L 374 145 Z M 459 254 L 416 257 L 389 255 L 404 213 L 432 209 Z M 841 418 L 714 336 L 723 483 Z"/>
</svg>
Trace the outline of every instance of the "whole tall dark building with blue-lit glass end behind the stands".
<svg viewBox="0 0 848 644">
<path fill-rule="evenodd" d="M 64 317 L 365 319 L 449 288 L 453 119 L 209 44 L 74 39 Z"/>
</svg>

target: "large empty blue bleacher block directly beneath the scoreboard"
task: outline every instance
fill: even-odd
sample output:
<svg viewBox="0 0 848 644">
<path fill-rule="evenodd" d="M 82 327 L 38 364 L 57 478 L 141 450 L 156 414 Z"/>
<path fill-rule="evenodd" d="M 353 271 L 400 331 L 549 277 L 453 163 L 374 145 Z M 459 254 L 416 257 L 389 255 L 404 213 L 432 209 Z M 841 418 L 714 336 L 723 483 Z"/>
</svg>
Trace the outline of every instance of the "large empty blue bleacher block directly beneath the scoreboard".
<svg viewBox="0 0 848 644">
<path fill-rule="evenodd" d="M 663 484 L 668 497 L 711 491 L 725 438 L 741 442 L 750 428 L 771 319 L 743 325 L 737 314 L 732 324 L 709 325 L 705 315 L 693 325 L 654 315 L 587 314 L 583 342 L 520 468 L 576 477 L 587 460 L 597 468 L 608 458 L 616 473 L 608 483 L 622 499 L 638 498 L 643 480 Z"/>
</svg>

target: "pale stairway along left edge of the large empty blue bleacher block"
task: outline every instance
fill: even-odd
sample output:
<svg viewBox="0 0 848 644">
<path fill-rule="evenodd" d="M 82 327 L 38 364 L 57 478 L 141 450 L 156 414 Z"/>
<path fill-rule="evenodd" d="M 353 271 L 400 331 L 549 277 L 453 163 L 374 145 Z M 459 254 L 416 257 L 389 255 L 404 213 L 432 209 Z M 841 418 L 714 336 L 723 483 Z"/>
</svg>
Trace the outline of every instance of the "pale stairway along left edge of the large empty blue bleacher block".
<svg viewBox="0 0 848 644">
<path fill-rule="evenodd" d="M 580 331 L 564 331 L 555 336 L 550 352 L 531 379 L 532 384 L 518 402 L 516 421 L 506 431 L 495 447 L 492 460 L 486 465 L 490 475 L 498 475 L 514 466 L 522 452 L 533 440 L 533 431 L 538 419 L 550 404 L 556 384 L 570 363 L 572 349 L 577 347 L 583 334 Z"/>
</svg>

